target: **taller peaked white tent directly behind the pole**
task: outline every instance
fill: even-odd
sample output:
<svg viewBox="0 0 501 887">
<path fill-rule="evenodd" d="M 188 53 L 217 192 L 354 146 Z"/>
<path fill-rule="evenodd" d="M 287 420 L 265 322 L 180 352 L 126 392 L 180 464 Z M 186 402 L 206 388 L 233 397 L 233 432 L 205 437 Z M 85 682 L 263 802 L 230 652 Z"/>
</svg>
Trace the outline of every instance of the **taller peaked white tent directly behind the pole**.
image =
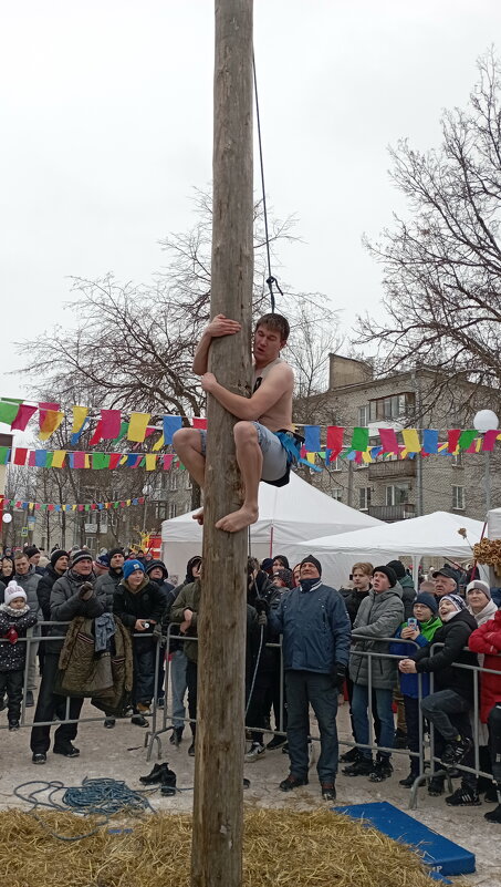
<svg viewBox="0 0 501 887">
<path fill-rule="evenodd" d="M 201 554 L 202 529 L 188 512 L 161 524 L 161 556 L 179 579 L 187 560 Z M 313 536 L 374 527 L 382 522 L 326 496 L 293 472 L 286 486 L 259 486 L 259 519 L 250 528 L 251 554 L 262 560 L 271 554 L 290 554 Z M 386 525 L 385 525 L 386 526 Z M 285 546 L 288 551 L 284 551 Z M 294 560 L 294 564 L 296 561 Z"/>
</svg>

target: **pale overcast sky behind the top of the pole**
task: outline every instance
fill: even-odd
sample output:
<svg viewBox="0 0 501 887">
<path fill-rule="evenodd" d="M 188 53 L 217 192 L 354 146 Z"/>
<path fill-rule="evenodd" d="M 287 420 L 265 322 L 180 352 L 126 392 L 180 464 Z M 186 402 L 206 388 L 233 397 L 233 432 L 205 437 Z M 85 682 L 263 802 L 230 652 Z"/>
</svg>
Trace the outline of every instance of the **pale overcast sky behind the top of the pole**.
<svg viewBox="0 0 501 887">
<path fill-rule="evenodd" d="M 213 2 L 0 8 L 0 394 L 29 399 L 4 374 L 22 362 L 13 341 L 71 324 L 67 277 L 148 282 L 158 239 L 195 221 L 192 189 L 211 178 Z M 362 234 L 403 209 L 387 146 L 439 143 L 441 110 L 467 103 L 500 25 L 499 0 L 255 0 L 268 197 L 304 240 L 275 274 L 325 292 L 347 330 L 380 298 Z"/>
</svg>

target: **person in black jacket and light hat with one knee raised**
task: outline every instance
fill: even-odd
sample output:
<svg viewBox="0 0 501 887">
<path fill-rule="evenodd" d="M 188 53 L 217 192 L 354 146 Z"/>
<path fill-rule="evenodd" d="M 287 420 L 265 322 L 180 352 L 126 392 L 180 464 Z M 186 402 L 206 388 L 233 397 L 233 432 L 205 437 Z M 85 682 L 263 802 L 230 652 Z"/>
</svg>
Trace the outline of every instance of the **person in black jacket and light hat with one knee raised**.
<svg viewBox="0 0 501 887">
<path fill-rule="evenodd" d="M 445 766 L 461 762 L 473 766 L 473 739 L 470 723 L 470 709 L 473 705 L 476 672 L 458 668 L 458 664 L 477 666 L 477 656 L 465 651 L 468 639 L 477 628 L 477 621 L 466 609 L 459 595 L 443 595 L 438 613 L 443 622 L 434 636 L 434 643 L 422 647 L 410 659 L 403 659 L 398 668 L 404 673 L 432 672 L 435 688 L 430 695 L 421 700 L 421 712 L 436 731 L 436 753 Z M 443 647 L 431 652 L 434 644 Z M 440 742 L 440 736 L 442 742 Z M 443 746 L 445 743 L 445 746 Z M 441 794 L 443 777 L 434 777 L 429 784 L 430 794 Z M 446 797 L 450 806 L 477 806 L 480 804 L 477 792 L 477 777 L 465 773 L 461 786 Z"/>
</svg>

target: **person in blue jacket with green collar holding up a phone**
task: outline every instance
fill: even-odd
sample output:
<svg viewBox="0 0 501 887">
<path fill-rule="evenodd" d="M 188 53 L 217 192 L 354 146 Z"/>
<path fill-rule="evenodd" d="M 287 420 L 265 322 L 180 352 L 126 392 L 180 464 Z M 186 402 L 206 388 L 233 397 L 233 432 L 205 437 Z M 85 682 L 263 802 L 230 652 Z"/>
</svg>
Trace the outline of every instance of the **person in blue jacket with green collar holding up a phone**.
<svg viewBox="0 0 501 887">
<path fill-rule="evenodd" d="M 414 601 L 414 617 L 416 625 L 405 622 L 395 632 L 396 638 L 414 641 L 414 643 L 390 643 L 389 652 L 394 656 L 410 657 L 416 652 L 415 643 L 419 647 L 427 647 L 431 643 L 434 635 L 441 628 L 441 619 L 438 618 L 438 604 L 435 595 L 421 591 Z M 410 622 L 413 622 L 413 619 Z M 421 698 L 427 697 L 430 691 L 429 675 L 421 675 Z M 417 674 L 400 673 L 400 690 L 404 697 L 405 719 L 407 724 L 407 747 L 410 752 L 419 752 L 419 677 Z M 419 757 L 410 756 L 410 773 L 405 780 L 400 780 L 400 785 L 410 787 L 419 776 Z"/>
</svg>

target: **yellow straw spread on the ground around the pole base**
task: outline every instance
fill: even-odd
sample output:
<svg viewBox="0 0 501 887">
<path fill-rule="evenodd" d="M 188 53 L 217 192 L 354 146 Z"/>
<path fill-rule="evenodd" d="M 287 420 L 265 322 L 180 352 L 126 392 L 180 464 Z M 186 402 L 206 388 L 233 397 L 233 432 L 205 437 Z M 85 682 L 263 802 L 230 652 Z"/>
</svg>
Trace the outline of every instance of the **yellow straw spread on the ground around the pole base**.
<svg viewBox="0 0 501 887">
<path fill-rule="evenodd" d="M 0 870 L 9 887 L 189 887 L 191 816 L 98 823 L 72 813 L 0 812 Z M 247 809 L 243 887 L 430 887 L 418 856 L 341 814 Z"/>
</svg>

